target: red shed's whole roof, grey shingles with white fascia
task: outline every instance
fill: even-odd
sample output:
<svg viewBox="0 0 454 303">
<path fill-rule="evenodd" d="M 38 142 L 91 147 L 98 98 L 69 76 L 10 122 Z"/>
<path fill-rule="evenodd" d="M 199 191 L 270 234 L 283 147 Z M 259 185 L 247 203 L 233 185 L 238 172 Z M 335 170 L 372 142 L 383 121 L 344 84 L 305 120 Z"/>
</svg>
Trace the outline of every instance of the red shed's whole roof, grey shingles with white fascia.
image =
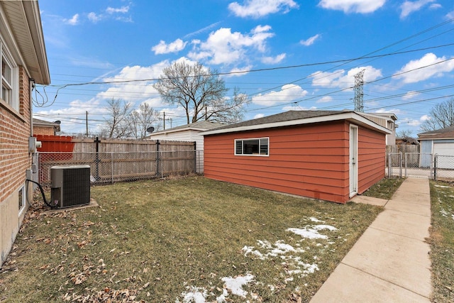
<svg viewBox="0 0 454 303">
<path fill-rule="evenodd" d="M 205 131 L 202 135 L 214 135 L 217 133 L 232 133 L 236 131 L 252 131 L 262 128 L 276 128 L 282 126 L 297 126 L 301 124 L 319 123 L 327 121 L 348 120 L 361 126 L 375 129 L 381 133 L 391 133 L 387 128 L 370 121 L 355 111 L 284 111 L 280 114 L 266 116 L 258 119 L 221 126 L 211 131 Z"/>
</svg>

